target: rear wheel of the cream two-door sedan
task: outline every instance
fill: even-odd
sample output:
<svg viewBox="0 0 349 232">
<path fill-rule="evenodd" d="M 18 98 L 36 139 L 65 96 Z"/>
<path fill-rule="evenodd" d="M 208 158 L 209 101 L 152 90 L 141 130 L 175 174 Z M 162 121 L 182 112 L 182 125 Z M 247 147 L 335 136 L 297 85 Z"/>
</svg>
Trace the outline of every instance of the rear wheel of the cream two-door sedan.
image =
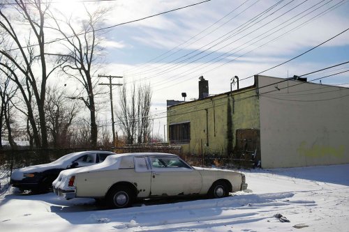
<svg viewBox="0 0 349 232">
<path fill-rule="evenodd" d="M 127 208 L 133 203 L 132 190 L 127 186 L 113 187 L 107 194 L 107 204 L 111 208 Z"/>
</svg>

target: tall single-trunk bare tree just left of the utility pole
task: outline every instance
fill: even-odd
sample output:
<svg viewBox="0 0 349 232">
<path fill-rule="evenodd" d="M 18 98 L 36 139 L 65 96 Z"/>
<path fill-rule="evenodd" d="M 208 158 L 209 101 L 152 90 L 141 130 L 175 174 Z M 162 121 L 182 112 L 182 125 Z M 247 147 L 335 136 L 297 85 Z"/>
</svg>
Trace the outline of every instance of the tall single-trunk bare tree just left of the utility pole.
<svg viewBox="0 0 349 232">
<path fill-rule="evenodd" d="M 84 88 L 84 93 L 74 95 L 71 98 L 82 100 L 84 105 L 89 109 L 90 113 L 90 128 L 91 128 L 91 146 L 97 146 L 98 127 L 96 124 L 96 68 L 98 52 L 101 51 L 99 46 L 98 27 L 103 23 L 103 15 L 105 10 L 98 9 L 94 13 L 90 13 L 86 9 L 88 20 L 82 21 L 80 28 L 73 25 L 70 19 L 66 19 L 65 24 L 68 30 L 61 26 L 61 22 L 57 18 L 52 17 L 55 22 L 55 27 L 59 33 L 65 38 L 64 46 L 67 52 L 56 54 L 59 59 L 64 61 L 65 65 L 62 70 L 66 75 L 77 79 Z"/>
</svg>

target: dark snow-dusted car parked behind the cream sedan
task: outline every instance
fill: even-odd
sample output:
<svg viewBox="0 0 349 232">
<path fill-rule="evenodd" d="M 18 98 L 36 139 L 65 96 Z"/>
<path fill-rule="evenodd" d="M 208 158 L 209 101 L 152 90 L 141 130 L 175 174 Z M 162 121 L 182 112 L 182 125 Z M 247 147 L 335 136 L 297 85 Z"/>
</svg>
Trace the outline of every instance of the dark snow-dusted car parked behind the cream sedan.
<svg viewBox="0 0 349 232">
<path fill-rule="evenodd" d="M 64 155 L 48 164 L 15 169 L 11 175 L 10 184 L 13 187 L 18 187 L 20 191 L 48 192 L 52 187 L 53 180 L 58 177 L 62 170 L 97 164 L 103 162 L 108 155 L 115 155 L 115 153 L 103 150 L 81 151 Z"/>
</svg>

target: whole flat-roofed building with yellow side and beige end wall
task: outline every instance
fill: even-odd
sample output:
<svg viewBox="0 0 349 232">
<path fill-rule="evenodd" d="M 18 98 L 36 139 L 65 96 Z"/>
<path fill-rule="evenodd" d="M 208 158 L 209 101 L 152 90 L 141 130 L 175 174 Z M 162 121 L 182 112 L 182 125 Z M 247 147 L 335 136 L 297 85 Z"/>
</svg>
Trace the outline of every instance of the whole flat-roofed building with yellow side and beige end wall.
<svg viewBox="0 0 349 232">
<path fill-rule="evenodd" d="M 168 106 L 168 141 L 262 168 L 349 163 L 349 88 L 255 75 L 253 86 Z"/>
</svg>

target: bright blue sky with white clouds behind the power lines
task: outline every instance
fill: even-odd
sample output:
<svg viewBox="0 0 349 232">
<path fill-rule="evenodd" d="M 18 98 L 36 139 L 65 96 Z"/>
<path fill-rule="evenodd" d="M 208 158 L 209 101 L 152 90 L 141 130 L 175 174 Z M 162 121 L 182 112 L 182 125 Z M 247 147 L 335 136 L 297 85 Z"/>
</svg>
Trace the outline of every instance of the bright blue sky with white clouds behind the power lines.
<svg viewBox="0 0 349 232">
<path fill-rule="evenodd" d="M 57 0 L 52 6 L 75 20 L 83 19 L 83 6 L 107 9 L 103 27 L 111 28 L 103 30 L 103 67 L 96 75 L 124 77 L 114 79 L 114 83 L 150 84 L 154 134 L 161 137 L 166 100 L 184 100 L 184 92 L 186 101 L 197 99 L 200 76 L 209 81 L 209 94 L 214 95 L 230 91 L 235 75 L 243 79 L 239 83 L 242 88 L 252 85 L 253 78 L 248 77 L 258 73 L 286 78 L 349 60 L 348 0 L 200 2 Z M 177 8 L 182 9 L 174 10 Z M 164 13 L 169 10 L 174 11 Z M 152 15 L 157 16 L 149 17 Z M 144 17 L 149 18 L 140 20 Z M 131 22 L 135 20 L 139 21 Z M 262 72 L 318 45 L 297 59 Z M 345 64 L 306 77 L 311 80 L 348 69 L 349 64 Z M 322 84 L 349 86 L 348 73 L 322 79 Z M 117 88 L 114 98 L 118 98 Z M 108 95 L 103 98 L 107 102 Z M 107 105 L 99 113 L 101 121 L 110 121 Z"/>
</svg>

